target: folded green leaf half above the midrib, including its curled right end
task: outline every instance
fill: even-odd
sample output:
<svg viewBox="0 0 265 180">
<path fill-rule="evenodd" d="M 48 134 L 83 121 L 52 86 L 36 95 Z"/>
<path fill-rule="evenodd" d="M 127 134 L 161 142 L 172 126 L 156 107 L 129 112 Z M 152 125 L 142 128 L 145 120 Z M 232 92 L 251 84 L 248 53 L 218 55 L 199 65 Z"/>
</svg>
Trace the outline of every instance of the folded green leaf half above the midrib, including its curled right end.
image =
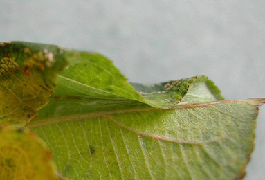
<svg viewBox="0 0 265 180">
<path fill-rule="evenodd" d="M 98 53 L 68 51 L 65 59 L 69 65 L 58 75 L 57 89 L 48 107 L 39 111 L 39 120 L 134 107 L 170 109 L 180 102 L 223 100 L 219 89 L 205 76 L 161 84 L 129 84 L 120 71 Z"/>
</svg>

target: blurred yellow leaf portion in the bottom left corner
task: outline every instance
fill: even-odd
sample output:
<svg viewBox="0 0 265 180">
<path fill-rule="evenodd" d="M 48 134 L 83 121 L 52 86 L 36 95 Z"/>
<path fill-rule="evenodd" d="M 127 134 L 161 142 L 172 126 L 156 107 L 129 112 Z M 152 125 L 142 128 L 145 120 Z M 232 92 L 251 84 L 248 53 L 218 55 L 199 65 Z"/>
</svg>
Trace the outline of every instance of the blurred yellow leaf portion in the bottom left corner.
<svg viewBox="0 0 265 180">
<path fill-rule="evenodd" d="M 28 129 L 0 129 L 0 179 L 56 179 L 51 152 Z"/>
</svg>

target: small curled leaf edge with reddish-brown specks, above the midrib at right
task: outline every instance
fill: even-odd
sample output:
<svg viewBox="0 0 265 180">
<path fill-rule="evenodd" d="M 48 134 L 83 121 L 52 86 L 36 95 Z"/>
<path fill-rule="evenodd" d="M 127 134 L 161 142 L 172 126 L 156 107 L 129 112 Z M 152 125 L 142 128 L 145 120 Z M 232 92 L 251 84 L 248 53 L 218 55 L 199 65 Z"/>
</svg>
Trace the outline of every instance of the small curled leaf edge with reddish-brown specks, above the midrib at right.
<svg viewBox="0 0 265 180">
<path fill-rule="evenodd" d="M 224 100 L 220 90 L 207 77 L 200 75 L 161 84 L 131 83 L 145 102 L 153 107 L 168 108 L 174 105 Z"/>
</svg>

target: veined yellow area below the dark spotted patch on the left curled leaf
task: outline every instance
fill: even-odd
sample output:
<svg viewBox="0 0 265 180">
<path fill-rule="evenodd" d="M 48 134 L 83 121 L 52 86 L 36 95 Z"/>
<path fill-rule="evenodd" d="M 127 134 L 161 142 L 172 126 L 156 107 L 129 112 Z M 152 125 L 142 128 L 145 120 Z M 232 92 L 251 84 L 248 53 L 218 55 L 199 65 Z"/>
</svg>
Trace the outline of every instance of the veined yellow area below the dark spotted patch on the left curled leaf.
<svg viewBox="0 0 265 180">
<path fill-rule="evenodd" d="M 0 125 L 25 125 L 48 103 L 46 90 L 17 69 L 0 77 Z"/>
</svg>

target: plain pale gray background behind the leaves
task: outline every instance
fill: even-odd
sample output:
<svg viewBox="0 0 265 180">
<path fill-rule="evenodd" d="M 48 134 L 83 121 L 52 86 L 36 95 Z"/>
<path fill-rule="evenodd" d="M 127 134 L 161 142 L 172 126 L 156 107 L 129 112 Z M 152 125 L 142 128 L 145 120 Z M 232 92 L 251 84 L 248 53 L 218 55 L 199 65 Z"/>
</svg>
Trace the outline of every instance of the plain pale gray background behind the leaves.
<svg viewBox="0 0 265 180">
<path fill-rule="evenodd" d="M 0 0 L 0 42 L 107 55 L 131 82 L 208 75 L 227 99 L 265 97 L 265 1 Z M 246 179 L 265 179 L 265 108 Z"/>
</svg>

